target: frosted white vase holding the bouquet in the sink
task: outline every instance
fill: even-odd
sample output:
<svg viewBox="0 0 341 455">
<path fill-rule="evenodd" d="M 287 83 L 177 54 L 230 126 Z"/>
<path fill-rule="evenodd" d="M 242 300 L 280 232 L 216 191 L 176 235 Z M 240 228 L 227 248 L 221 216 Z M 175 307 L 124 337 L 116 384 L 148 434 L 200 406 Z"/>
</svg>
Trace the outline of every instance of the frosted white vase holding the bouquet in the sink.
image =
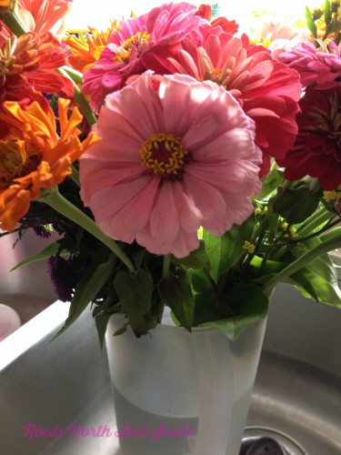
<svg viewBox="0 0 341 455">
<path fill-rule="evenodd" d="M 171 319 L 136 339 L 113 316 L 105 341 L 122 455 L 238 455 L 266 319 L 236 341 Z"/>
</svg>

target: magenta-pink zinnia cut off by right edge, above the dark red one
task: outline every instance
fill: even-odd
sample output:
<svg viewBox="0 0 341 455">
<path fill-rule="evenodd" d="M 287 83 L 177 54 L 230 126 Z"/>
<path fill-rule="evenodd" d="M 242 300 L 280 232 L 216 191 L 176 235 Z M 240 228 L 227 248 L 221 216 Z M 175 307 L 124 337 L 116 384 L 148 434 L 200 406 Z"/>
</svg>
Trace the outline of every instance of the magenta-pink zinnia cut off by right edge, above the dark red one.
<svg viewBox="0 0 341 455">
<path fill-rule="evenodd" d="M 320 45 L 322 50 L 312 43 L 301 43 L 277 58 L 298 71 L 304 87 L 312 84 L 318 89 L 341 86 L 340 49 L 333 41 L 328 45 L 320 42 Z"/>
</svg>

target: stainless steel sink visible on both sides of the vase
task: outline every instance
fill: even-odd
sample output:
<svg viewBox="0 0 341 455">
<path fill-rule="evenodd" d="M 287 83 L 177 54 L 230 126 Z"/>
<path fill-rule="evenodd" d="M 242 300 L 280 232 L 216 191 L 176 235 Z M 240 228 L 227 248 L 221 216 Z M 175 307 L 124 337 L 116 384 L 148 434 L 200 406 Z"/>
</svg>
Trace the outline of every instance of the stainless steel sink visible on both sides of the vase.
<svg viewBox="0 0 341 455">
<path fill-rule="evenodd" d="M 25 305 L 25 280 L 17 279 L 22 285 L 15 293 Z M 1 296 L 14 293 L 11 278 L 0 277 L 0 283 Z M 44 286 L 48 301 L 53 294 Z M 67 431 L 71 425 L 116 430 L 105 352 L 89 311 L 49 343 L 67 309 L 62 302 L 47 306 L 0 343 L 2 455 L 120 454 L 113 435 L 77 440 Z M 341 454 L 340 328 L 341 310 L 307 300 L 289 286 L 276 289 L 245 440 L 270 436 L 286 455 Z M 25 437 L 26 423 L 36 433 L 26 427 Z M 39 429 L 45 436 L 34 437 Z"/>
</svg>

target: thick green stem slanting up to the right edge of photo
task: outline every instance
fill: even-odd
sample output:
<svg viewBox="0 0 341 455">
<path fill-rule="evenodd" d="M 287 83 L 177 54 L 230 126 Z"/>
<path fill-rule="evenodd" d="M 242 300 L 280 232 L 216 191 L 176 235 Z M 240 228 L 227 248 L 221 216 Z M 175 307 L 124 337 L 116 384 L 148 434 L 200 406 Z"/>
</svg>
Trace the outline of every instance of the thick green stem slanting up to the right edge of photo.
<svg viewBox="0 0 341 455">
<path fill-rule="evenodd" d="M 277 283 L 284 281 L 286 278 L 290 277 L 290 275 L 293 275 L 319 256 L 324 255 L 329 251 L 333 251 L 334 249 L 341 248 L 341 227 L 336 227 L 332 231 L 326 233 L 321 239 L 323 240 L 322 243 L 307 251 L 289 266 L 278 272 L 274 278 L 271 278 L 264 287 L 265 292 L 275 288 Z"/>
</svg>

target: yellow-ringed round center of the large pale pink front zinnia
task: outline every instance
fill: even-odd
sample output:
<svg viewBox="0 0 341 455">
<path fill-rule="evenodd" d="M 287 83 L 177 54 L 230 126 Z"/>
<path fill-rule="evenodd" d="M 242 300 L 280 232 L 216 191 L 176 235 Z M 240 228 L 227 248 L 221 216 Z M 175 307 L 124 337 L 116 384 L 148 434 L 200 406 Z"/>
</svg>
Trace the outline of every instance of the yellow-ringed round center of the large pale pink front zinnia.
<svg viewBox="0 0 341 455">
<path fill-rule="evenodd" d="M 155 176 L 165 178 L 182 177 L 188 161 L 188 151 L 183 147 L 181 138 L 173 134 L 152 135 L 141 147 L 141 166 L 147 167 Z"/>
</svg>

